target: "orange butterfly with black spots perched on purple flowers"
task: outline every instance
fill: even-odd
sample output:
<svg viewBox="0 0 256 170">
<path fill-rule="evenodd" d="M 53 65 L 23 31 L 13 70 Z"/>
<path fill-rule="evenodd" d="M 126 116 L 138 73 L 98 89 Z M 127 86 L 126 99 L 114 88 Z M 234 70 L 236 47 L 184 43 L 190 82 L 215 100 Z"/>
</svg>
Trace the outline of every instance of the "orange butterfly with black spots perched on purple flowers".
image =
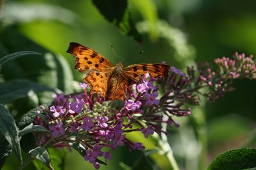
<svg viewBox="0 0 256 170">
<path fill-rule="evenodd" d="M 140 80 L 146 73 L 154 78 L 166 77 L 170 66 L 166 64 L 132 64 L 123 67 L 119 62 L 113 66 L 110 60 L 92 49 L 70 43 L 67 53 L 71 53 L 76 62 L 75 69 L 87 71 L 83 81 L 88 83 L 91 93 L 100 94 L 105 100 L 125 100 L 126 89 Z"/>
</svg>

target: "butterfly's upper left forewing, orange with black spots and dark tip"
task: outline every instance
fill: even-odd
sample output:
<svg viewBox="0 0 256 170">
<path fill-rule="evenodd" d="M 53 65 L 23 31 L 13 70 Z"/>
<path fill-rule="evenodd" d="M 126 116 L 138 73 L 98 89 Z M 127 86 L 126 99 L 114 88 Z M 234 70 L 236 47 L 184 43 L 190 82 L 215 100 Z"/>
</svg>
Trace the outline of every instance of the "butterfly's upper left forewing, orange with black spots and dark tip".
<svg viewBox="0 0 256 170">
<path fill-rule="evenodd" d="M 79 43 L 70 43 L 67 52 L 74 55 L 75 68 L 81 72 L 87 69 L 109 71 L 113 67 L 113 64 L 106 57 Z"/>
</svg>

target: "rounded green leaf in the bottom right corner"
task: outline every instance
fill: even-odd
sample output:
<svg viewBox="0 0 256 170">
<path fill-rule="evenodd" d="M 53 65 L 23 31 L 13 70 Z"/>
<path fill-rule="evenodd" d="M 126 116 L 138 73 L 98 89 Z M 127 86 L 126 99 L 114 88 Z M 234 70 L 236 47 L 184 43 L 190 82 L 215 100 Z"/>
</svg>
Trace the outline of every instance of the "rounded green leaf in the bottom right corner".
<svg viewBox="0 0 256 170">
<path fill-rule="evenodd" d="M 239 148 L 216 157 L 208 167 L 211 169 L 248 169 L 256 167 L 256 149 Z"/>
</svg>

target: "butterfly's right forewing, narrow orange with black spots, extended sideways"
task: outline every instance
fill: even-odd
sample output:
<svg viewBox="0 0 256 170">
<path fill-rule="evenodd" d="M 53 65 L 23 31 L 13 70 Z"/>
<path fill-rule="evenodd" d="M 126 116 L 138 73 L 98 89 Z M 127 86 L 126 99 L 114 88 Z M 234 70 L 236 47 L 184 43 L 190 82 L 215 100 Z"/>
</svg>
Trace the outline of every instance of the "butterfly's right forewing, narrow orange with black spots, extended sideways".
<svg viewBox="0 0 256 170">
<path fill-rule="evenodd" d="M 154 78 L 168 76 L 170 66 L 166 64 L 132 64 L 125 67 L 123 74 L 127 80 L 139 80 L 146 73 Z"/>
</svg>

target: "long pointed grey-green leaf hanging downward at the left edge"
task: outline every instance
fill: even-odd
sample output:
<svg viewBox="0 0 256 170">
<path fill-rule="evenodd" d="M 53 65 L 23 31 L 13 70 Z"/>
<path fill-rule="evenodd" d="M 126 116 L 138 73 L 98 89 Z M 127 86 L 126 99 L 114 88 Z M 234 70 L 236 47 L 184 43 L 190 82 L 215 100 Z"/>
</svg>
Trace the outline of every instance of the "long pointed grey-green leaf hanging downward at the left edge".
<svg viewBox="0 0 256 170">
<path fill-rule="evenodd" d="M 22 163 L 18 136 L 19 129 L 17 128 L 11 113 L 6 108 L 4 108 L 2 104 L 0 104 L 0 130 L 4 135 L 4 138 L 6 138 L 8 143 L 10 143 L 12 146 L 13 152 Z"/>
</svg>

